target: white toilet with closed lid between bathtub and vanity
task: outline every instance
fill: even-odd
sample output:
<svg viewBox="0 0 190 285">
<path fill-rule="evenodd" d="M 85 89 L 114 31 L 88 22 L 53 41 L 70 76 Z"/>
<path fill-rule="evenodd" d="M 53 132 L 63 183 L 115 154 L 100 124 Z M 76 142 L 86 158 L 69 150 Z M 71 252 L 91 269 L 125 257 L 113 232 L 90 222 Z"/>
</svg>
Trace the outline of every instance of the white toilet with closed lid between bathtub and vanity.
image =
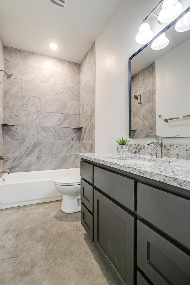
<svg viewBox="0 0 190 285">
<path fill-rule="evenodd" d="M 63 194 L 61 211 L 75 213 L 80 211 L 80 176 L 65 176 L 54 180 L 55 188 Z"/>
</svg>

